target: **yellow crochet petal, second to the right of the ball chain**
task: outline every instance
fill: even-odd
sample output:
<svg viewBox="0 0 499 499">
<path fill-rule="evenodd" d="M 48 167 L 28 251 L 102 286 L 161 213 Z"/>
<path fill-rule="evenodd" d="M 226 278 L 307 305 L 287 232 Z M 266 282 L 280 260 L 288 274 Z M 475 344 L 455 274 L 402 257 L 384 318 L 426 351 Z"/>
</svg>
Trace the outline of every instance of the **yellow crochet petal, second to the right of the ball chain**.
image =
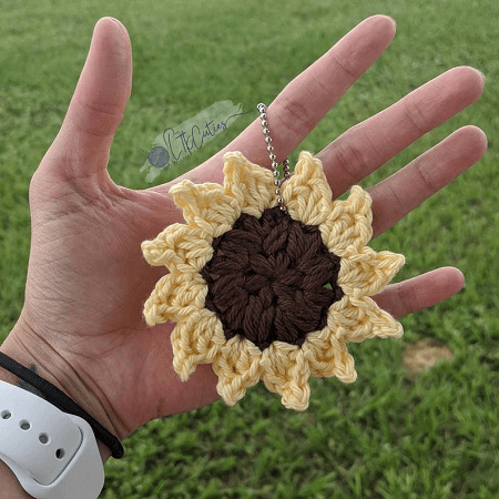
<svg viewBox="0 0 499 499">
<path fill-rule="evenodd" d="M 354 185 L 347 200 L 336 200 L 333 210 L 319 225 L 324 244 L 339 257 L 349 254 L 353 246 L 361 248 L 373 237 L 373 212 L 369 194 L 358 185 Z M 347 253 L 346 253 L 347 252 Z"/>
</svg>

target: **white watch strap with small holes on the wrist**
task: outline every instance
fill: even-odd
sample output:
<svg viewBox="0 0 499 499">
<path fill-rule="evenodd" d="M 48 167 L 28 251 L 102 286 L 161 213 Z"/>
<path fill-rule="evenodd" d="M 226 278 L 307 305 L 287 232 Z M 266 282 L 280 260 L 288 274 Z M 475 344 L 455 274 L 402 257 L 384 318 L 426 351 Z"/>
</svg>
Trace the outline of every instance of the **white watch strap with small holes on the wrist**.
<svg viewBox="0 0 499 499">
<path fill-rule="evenodd" d="M 104 466 L 92 427 L 0 381 L 0 459 L 37 499 L 96 499 Z"/>
</svg>

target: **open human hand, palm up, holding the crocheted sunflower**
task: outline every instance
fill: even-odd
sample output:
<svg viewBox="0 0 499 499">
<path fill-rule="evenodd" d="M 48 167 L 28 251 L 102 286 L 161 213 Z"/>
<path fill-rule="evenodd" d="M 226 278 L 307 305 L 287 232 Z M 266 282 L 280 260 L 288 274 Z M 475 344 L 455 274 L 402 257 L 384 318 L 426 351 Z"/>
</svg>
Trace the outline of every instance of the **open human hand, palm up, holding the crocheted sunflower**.
<svg viewBox="0 0 499 499">
<path fill-rule="evenodd" d="M 383 16 L 367 19 L 291 82 L 268 106 L 277 161 L 288 155 L 375 62 L 395 35 Z M 173 324 L 149 327 L 142 307 L 164 271 L 143 258 L 141 243 L 183 222 L 167 192 L 173 183 L 223 182 L 222 155 L 241 151 L 269 167 L 259 120 L 227 147 L 174 182 L 144 191 L 115 185 L 108 174 L 113 135 L 131 90 L 126 31 L 111 19 L 96 24 L 68 114 L 30 184 L 32 242 L 26 303 L 2 345 L 34 363 L 120 440 L 151 419 L 220 398 L 210 365 L 187 383 L 173 370 Z M 317 157 L 335 196 L 359 182 L 424 133 L 475 102 L 482 79 L 456 68 L 384 112 L 348 130 Z M 375 236 L 476 163 L 483 132 L 466 126 L 391 177 L 368 190 Z M 400 317 L 457 293 L 455 268 L 388 286 L 375 297 Z"/>
</svg>

